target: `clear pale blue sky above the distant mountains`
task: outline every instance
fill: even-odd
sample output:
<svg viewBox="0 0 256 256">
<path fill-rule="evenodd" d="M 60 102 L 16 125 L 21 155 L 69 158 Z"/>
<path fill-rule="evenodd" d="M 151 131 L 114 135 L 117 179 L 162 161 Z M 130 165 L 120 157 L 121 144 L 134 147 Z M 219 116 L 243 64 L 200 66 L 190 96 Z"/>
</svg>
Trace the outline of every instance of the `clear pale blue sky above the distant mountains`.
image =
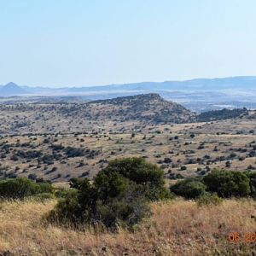
<svg viewBox="0 0 256 256">
<path fill-rule="evenodd" d="M 254 0 L 0 0 L 0 84 L 256 75 Z"/>
</svg>

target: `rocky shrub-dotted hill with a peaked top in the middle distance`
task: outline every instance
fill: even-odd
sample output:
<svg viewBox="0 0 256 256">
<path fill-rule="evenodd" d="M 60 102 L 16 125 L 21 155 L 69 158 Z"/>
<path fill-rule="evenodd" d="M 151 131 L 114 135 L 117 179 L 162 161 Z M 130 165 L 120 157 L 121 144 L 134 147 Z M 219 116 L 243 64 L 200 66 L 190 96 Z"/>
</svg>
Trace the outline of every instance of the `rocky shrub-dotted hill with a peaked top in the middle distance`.
<svg viewBox="0 0 256 256">
<path fill-rule="evenodd" d="M 154 93 L 89 102 L 88 106 L 94 108 L 97 118 L 108 117 L 119 121 L 140 120 L 151 124 L 178 124 L 195 119 L 195 113 Z"/>
</svg>

